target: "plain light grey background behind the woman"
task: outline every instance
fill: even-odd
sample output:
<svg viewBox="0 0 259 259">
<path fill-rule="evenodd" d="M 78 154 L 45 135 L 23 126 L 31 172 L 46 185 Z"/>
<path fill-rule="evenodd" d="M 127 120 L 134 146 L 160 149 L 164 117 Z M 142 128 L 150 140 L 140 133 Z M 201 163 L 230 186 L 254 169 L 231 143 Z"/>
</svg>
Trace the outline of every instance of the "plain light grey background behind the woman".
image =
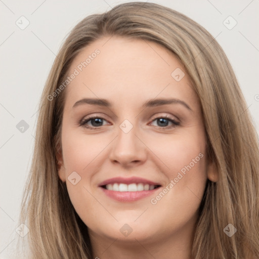
<svg viewBox="0 0 259 259">
<path fill-rule="evenodd" d="M 80 20 L 125 2 L 133 1 L 0 0 L 0 258 L 13 258 L 22 190 L 32 158 L 36 112 L 55 55 Z M 234 68 L 259 132 L 259 1 L 149 2 L 182 12 L 216 37 Z M 30 23 L 24 30 L 16 25 L 21 16 Z M 231 30 L 223 24 L 229 16 L 237 22 Z M 24 133 L 16 128 L 21 120 L 29 125 Z"/>
</svg>

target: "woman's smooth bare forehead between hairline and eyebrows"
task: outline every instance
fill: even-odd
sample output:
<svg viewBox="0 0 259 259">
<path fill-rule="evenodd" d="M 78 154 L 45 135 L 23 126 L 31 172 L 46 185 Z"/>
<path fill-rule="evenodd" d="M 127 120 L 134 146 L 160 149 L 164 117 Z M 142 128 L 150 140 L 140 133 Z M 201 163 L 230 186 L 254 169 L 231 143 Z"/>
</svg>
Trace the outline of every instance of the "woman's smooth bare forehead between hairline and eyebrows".
<svg viewBox="0 0 259 259">
<path fill-rule="evenodd" d="M 132 103 L 156 97 L 189 99 L 198 105 L 183 66 L 163 46 L 142 39 L 102 37 L 74 58 L 67 101 L 95 97 Z M 182 78 L 182 79 L 181 79 Z M 180 80 L 179 80 L 180 79 Z M 136 100 L 137 101 L 137 100 Z"/>
</svg>

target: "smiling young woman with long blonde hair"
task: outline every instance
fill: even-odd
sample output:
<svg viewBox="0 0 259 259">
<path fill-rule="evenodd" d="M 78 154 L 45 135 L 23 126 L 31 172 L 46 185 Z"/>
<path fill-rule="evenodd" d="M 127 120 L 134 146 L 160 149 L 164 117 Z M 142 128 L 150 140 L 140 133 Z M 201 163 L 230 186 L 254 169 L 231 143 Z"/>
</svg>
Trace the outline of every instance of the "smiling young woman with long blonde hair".
<svg viewBox="0 0 259 259">
<path fill-rule="evenodd" d="M 40 107 L 31 258 L 258 258 L 256 132 L 203 27 L 151 3 L 91 15 Z"/>
</svg>

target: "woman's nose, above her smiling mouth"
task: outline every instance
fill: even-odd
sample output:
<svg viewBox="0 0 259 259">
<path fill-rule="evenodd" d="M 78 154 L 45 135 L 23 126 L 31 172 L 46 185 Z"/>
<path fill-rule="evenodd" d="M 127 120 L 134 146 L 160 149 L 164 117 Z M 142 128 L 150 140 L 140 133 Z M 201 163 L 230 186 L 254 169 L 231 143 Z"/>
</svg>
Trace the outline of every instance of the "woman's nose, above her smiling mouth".
<svg viewBox="0 0 259 259">
<path fill-rule="evenodd" d="M 147 159 L 147 146 L 143 143 L 141 136 L 137 136 L 135 127 L 128 133 L 118 129 L 118 136 L 112 142 L 109 155 L 112 163 L 123 167 L 131 167 L 143 164 Z M 139 134 L 138 134 L 139 135 Z"/>
</svg>

